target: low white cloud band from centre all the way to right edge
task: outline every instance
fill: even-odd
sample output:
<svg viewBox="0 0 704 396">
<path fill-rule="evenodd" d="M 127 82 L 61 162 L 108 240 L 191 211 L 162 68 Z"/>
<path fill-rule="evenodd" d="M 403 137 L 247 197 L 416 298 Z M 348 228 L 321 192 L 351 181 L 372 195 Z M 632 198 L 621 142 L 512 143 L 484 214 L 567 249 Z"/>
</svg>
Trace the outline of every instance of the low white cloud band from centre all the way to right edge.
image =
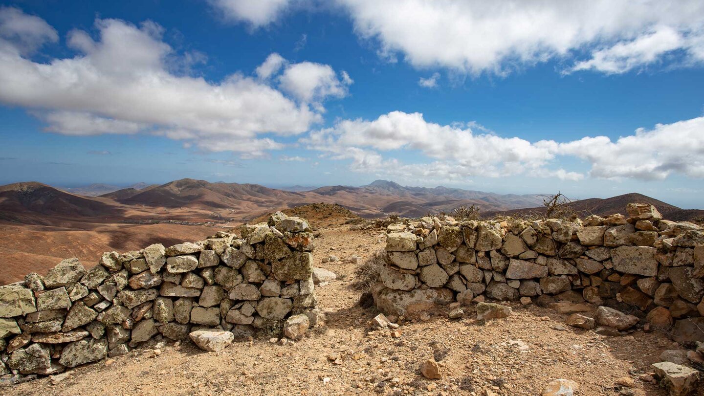
<svg viewBox="0 0 704 396">
<path fill-rule="evenodd" d="M 332 128 L 310 132 L 301 142 L 329 159 L 350 161 L 352 171 L 406 179 L 527 175 L 582 180 L 583 172 L 559 166 L 562 157 L 572 157 L 589 163 L 593 178 L 663 180 L 673 173 L 704 178 L 702 130 L 704 117 L 639 129 L 615 142 L 605 136 L 529 142 L 477 133 L 467 125 L 429 123 L 421 113 L 393 111 L 376 120 L 341 120 Z M 413 153 L 420 163 L 395 159 L 399 151 Z"/>
</svg>

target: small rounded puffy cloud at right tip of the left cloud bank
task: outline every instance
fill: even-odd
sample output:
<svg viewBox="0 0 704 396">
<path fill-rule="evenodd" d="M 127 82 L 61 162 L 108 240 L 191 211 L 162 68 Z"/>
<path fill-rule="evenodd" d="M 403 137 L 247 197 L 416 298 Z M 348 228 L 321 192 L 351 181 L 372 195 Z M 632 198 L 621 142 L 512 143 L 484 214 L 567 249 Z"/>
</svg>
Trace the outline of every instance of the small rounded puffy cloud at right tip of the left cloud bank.
<svg viewBox="0 0 704 396">
<path fill-rule="evenodd" d="M 279 77 L 279 87 L 303 103 L 320 103 L 327 97 L 345 97 L 353 81 L 346 72 L 342 80 L 329 65 L 301 62 L 288 66 Z"/>
</svg>

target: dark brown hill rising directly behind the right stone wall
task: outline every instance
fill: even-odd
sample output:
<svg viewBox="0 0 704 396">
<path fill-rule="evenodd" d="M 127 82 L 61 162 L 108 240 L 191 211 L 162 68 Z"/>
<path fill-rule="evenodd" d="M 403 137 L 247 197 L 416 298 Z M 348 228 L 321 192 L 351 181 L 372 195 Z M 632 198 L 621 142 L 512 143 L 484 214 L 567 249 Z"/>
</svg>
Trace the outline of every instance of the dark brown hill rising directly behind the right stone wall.
<svg viewBox="0 0 704 396">
<path fill-rule="evenodd" d="M 660 214 L 662 214 L 664 218 L 672 221 L 691 221 L 695 218 L 704 216 L 704 210 L 681 209 L 677 206 L 667 204 L 666 202 L 662 202 L 658 199 L 648 197 L 647 195 L 638 194 L 636 192 L 611 198 L 580 199 L 579 201 L 571 202 L 568 206 L 584 216 L 588 216 L 589 214 L 606 216 L 617 213 L 627 215 L 626 205 L 631 203 L 651 204 L 658 208 L 658 211 L 660 211 Z M 510 216 L 516 214 L 545 213 L 545 211 L 546 209 L 543 206 L 538 206 L 534 208 L 515 209 L 510 211 L 493 211 L 485 213 L 484 216 Z"/>
</svg>

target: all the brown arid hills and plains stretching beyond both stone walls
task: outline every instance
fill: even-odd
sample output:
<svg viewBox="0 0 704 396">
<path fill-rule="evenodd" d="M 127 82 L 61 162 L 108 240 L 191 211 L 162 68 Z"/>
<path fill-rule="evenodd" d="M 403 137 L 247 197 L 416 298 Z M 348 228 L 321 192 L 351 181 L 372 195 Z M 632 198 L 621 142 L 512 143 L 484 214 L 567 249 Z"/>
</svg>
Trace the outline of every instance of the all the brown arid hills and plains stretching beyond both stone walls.
<svg viewBox="0 0 704 396">
<path fill-rule="evenodd" d="M 106 185 L 72 191 L 94 195 Z M 135 188 L 138 187 L 138 188 Z M 89 191 L 90 190 L 90 191 Z M 403 187 L 376 180 L 362 187 L 332 186 L 296 192 L 261 185 L 182 179 L 87 196 L 38 182 L 0 186 L 0 283 L 25 273 L 44 273 L 60 259 L 76 256 L 96 262 L 106 251 L 126 251 L 160 241 L 199 240 L 273 211 L 312 203 L 338 204 L 353 214 L 417 217 L 474 205 L 479 214 L 529 214 L 544 208 L 543 196 L 493 194 L 447 187 Z M 624 202 L 654 204 L 668 218 L 691 220 L 704 211 L 684 210 L 641 194 L 573 202 L 576 211 L 612 214 Z M 532 208 L 532 209 L 522 209 Z M 315 216 L 315 215 L 314 215 Z M 306 217 L 306 216 L 303 216 Z"/>
</svg>

